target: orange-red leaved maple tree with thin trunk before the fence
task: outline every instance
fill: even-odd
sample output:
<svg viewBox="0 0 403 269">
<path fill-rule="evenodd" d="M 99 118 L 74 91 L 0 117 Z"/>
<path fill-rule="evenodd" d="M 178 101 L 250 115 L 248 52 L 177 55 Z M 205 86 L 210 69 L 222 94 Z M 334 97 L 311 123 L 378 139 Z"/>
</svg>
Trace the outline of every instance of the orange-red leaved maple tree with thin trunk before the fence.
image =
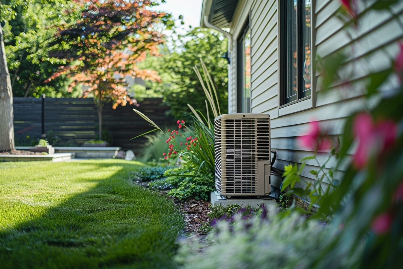
<svg viewBox="0 0 403 269">
<path fill-rule="evenodd" d="M 147 10 L 156 5 L 140 0 L 74 0 L 83 11 L 72 25 L 60 25 L 50 44 L 50 59 L 62 60 L 60 67 L 46 81 L 60 75 L 73 79 L 70 86 L 83 83 L 89 88 L 84 96 L 96 100 L 99 132 L 102 139 L 102 103 L 112 100 L 113 108 L 132 100 L 125 86 L 125 75 L 158 79 L 155 72 L 139 70 L 136 63 L 145 52 L 156 53 L 163 42 L 162 34 L 153 30 L 154 23 L 172 25 L 170 15 Z"/>
</svg>

